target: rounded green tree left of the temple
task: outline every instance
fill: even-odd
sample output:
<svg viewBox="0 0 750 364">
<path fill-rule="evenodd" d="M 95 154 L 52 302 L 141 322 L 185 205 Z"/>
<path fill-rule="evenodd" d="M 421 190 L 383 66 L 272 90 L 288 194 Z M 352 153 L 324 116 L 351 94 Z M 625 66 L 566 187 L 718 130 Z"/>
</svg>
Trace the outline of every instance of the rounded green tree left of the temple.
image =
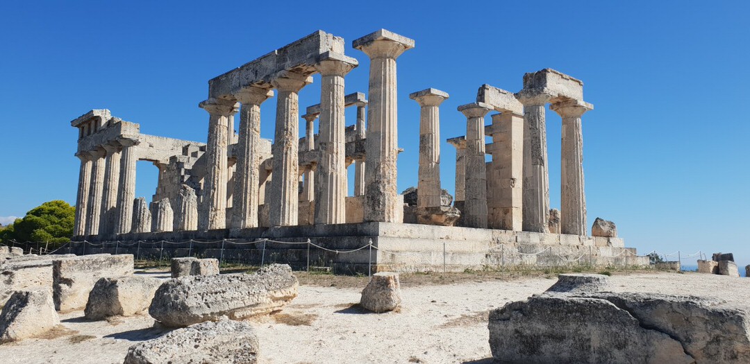
<svg viewBox="0 0 750 364">
<path fill-rule="evenodd" d="M 0 240 L 9 243 L 34 241 L 40 243 L 66 243 L 73 237 L 76 208 L 68 202 L 55 200 L 34 207 L 17 219 L 13 225 L 0 231 Z"/>
</svg>

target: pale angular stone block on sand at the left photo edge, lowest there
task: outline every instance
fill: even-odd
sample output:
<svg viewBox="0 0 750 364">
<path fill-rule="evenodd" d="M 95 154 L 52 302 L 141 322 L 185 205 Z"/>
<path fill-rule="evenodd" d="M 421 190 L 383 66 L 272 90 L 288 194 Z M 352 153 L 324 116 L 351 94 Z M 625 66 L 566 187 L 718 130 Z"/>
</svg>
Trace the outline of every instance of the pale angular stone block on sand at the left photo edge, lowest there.
<svg viewBox="0 0 750 364">
<path fill-rule="evenodd" d="M 60 318 L 46 289 L 16 291 L 0 314 L 0 342 L 14 342 L 45 333 Z"/>
</svg>

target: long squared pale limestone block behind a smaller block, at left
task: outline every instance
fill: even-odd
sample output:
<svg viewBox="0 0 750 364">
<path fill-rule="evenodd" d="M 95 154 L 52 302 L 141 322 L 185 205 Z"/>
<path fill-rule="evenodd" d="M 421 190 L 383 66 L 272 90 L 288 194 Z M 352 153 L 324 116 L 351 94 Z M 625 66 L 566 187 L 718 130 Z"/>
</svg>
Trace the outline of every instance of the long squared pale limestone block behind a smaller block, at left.
<svg viewBox="0 0 750 364">
<path fill-rule="evenodd" d="M 133 274 L 133 255 L 84 255 L 52 261 L 52 297 L 55 309 L 70 312 L 86 307 L 89 293 L 102 277 Z"/>
</svg>

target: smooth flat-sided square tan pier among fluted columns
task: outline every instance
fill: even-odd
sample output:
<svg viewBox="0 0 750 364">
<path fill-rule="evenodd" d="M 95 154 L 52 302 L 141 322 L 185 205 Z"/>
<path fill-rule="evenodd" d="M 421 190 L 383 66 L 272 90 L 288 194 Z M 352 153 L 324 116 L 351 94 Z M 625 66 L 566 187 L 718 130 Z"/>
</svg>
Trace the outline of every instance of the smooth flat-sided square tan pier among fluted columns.
<svg viewBox="0 0 750 364">
<path fill-rule="evenodd" d="M 487 226 L 520 231 L 523 222 L 523 115 L 492 115 L 492 162 L 487 172 Z"/>
</svg>

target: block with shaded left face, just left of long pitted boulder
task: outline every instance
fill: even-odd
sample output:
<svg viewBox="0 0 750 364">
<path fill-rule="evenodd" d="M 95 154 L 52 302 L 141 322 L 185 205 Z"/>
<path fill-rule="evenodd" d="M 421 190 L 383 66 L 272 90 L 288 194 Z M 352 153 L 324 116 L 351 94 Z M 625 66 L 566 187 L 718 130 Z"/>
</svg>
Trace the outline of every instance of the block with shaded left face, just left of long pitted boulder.
<svg viewBox="0 0 750 364">
<path fill-rule="evenodd" d="M 162 280 L 148 276 L 99 279 L 89 293 L 84 313 L 89 320 L 132 316 L 148 309 Z"/>
</svg>

